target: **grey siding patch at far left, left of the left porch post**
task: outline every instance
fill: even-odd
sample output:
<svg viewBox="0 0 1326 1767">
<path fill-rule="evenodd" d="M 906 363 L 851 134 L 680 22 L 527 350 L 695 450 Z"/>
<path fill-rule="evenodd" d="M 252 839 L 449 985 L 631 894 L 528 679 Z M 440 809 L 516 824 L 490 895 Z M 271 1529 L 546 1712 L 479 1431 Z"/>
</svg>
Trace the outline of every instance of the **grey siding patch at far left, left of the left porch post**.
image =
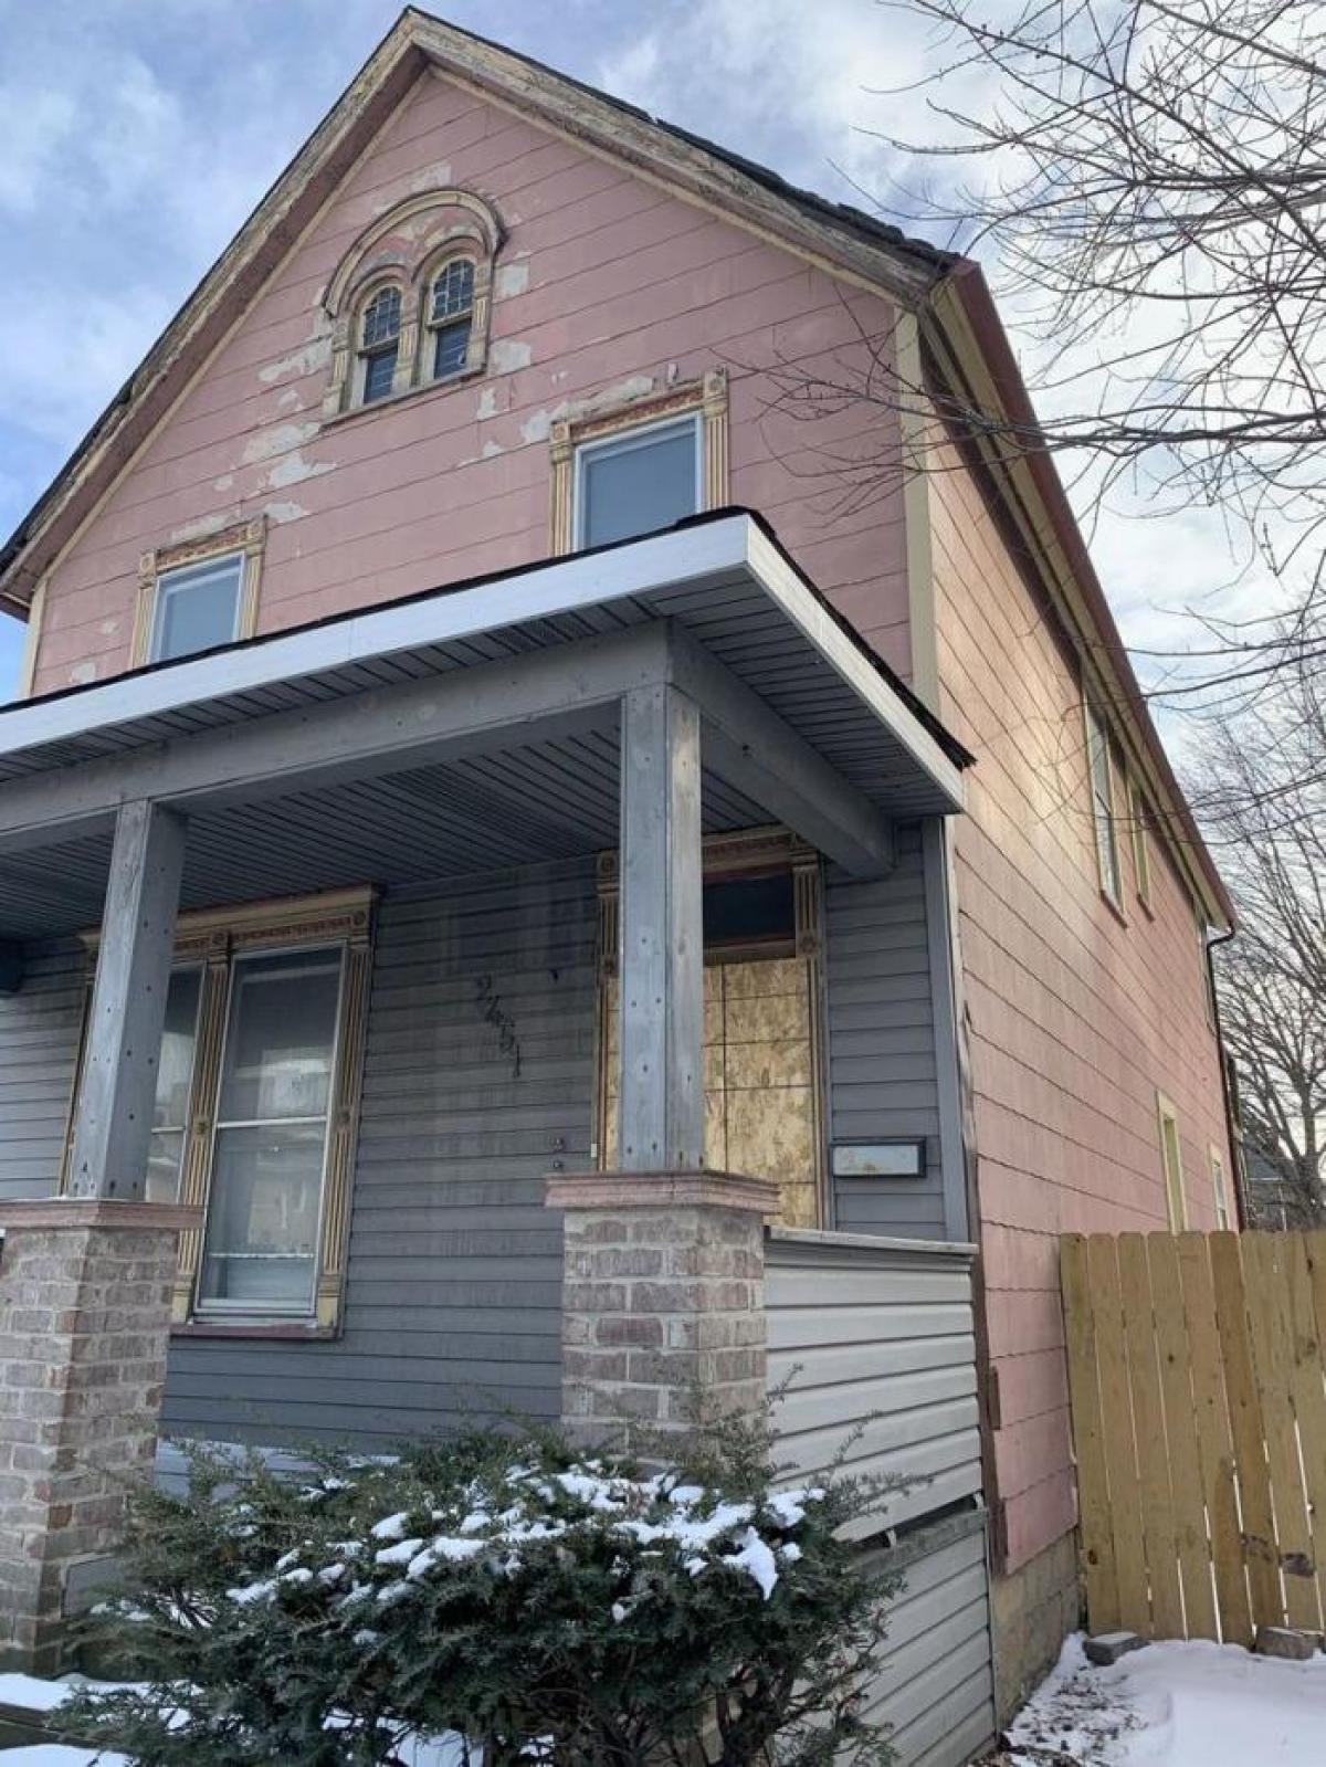
<svg viewBox="0 0 1326 1767">
<path fill-rule="evenodd" d="M 21 990 L 0 995 L 0 1198 L 60 1182 L 85 975 L 78 940 L 51 940 L 28 945 Z"/>
</svg>

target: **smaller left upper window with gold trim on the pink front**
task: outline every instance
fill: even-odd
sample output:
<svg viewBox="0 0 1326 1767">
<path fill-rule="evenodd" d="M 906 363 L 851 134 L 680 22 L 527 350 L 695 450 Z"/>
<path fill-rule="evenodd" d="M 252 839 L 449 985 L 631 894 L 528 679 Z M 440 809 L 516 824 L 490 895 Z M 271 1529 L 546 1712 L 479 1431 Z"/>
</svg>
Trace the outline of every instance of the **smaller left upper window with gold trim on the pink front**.
<svg viewBox="0 0 1326 1767">
<path fill-rule="evenodd" d="M 200 541 L 143 553 L 129 666 L 177 663 L 251 638 L 263 539 L 258 516 Z"/>
</svg>

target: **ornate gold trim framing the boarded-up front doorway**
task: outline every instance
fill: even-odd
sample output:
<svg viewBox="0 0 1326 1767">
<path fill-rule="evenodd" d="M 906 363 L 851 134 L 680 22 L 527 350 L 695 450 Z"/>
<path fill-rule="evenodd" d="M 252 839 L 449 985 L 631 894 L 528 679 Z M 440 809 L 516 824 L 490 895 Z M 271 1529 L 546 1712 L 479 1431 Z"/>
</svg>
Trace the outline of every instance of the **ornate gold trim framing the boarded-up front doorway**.
<svg viewBox="0 0 1326 1767">
<path fill-rule="evenodd" d="M 827 1062 L 824 1032 L 824 880 L 819 852 L 789 829 L 750 829 L 739 834 L 713 834 L 704 841 L 704 878 L 720 882 L 762 873 L 792 873 L 794 949 L 790 956 L 806 963 L 810 995 L 810 1108 L 812 1108 L 812 1184 L 817 1225 L 831 1221 L 827 1179 Z M 594 1163 L 606 1168 L 610 1147 L 612 1048 L 610 1014 L 619 974 L 621 868 L 615 852 L 598 859 L 598 929 L 596 929 L 596 1027 L 594 1027 Z M 705 963 L 760 961 L 769 947 L 723 945 L 705 952 Z M 760 1177 L 762 1173 L 755 1173 Z"/>
</svg>

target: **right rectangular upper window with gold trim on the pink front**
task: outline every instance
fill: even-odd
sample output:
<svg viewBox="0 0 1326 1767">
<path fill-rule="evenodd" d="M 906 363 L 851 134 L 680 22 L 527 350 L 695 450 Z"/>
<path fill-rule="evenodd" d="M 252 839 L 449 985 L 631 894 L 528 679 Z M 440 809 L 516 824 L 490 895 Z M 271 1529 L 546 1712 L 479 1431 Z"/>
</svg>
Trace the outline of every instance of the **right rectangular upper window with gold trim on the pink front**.
<svg viewBox="0 0 1326 1767">
<path fill-rule="evenodd" d="M 727 375 L 552 429 L 552 551 L 606 546 L 728 500 Z"/>
</svg>

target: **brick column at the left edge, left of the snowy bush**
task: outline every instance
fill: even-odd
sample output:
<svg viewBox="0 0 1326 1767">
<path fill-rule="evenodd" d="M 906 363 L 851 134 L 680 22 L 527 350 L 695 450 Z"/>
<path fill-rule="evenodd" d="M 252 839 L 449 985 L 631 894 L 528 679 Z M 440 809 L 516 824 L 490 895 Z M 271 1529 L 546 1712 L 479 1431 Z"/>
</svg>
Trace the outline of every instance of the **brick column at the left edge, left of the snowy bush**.
<svg viewBox="0 0 1326 1767">
<path fill-rule="evenodd" d="M 152 1470 L 180 1228 L 198 1212 L 0 1203 L 0 1665 L 60 1665 L 65 1576 Z"/>
</svg>

